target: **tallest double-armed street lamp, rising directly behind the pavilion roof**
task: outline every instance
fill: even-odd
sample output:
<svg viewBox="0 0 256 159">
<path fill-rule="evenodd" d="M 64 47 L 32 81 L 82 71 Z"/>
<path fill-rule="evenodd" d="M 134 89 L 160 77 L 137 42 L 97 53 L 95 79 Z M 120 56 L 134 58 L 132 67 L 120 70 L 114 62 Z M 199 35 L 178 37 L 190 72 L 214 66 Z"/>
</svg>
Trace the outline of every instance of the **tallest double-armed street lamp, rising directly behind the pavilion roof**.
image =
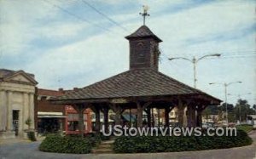
<svg viewBox="0 0 256 159">
<path fill-rule="evenodd" d="M 198 61 L 204 59 L 204 58 L 207 58 L 207 57 L 210 57 L 210 56 L 217 56 L 219 57 L 221 54 L 207 54 L 207 55 L 204 55 L 204 56 L 201 56 L 201 58 L 198 58 L 198 59 L 195 59 L 195 56 L 193 57 L 193 59 L 188 59 L 188 58 L 184 58 L 184 57 L 176 57 L 176 58 L 169 58 L 169 60 L 177 60 L 177 59 L 181 59 L 181 60 L 188 60 L 189 62 L 191 62 L 194 66 L 194 87 L 196 88 L 196 64 Z"/>
</svg>

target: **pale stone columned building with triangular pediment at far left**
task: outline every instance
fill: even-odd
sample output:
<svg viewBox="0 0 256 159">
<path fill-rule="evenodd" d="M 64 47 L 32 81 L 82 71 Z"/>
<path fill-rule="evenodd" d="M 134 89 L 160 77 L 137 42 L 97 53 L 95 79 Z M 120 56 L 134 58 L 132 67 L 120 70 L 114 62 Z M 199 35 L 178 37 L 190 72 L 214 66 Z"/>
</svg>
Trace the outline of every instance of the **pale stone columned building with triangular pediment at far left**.
<svg viewBox="0 0 256 159">
<path fill-rule="evenodd" d="M 33 74 L 0 69 L 0 139 L 26 137 L 26 130 L 34 130 L 37 84 Z"/>
</svg>

